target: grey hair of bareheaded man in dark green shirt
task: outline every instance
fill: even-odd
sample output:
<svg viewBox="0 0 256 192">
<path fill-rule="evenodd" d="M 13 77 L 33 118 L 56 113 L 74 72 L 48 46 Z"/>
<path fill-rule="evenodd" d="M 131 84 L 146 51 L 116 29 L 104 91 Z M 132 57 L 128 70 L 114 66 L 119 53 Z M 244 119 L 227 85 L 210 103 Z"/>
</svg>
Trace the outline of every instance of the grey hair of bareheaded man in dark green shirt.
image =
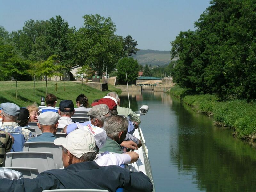
<svg viewBox="0 0 256 192">
<path fill-rule="evenodd" d="M 127 128 L 128 128 L 127 119 L 119 115 L 109 116 L 105 120 L 104 126 L 103 126 L 103 129 L 106 131 L 108 137 L 111 137 L 112 139 L 117 139 L 121 131 L 123 131 L 126 134 Z"/>
</svg>

